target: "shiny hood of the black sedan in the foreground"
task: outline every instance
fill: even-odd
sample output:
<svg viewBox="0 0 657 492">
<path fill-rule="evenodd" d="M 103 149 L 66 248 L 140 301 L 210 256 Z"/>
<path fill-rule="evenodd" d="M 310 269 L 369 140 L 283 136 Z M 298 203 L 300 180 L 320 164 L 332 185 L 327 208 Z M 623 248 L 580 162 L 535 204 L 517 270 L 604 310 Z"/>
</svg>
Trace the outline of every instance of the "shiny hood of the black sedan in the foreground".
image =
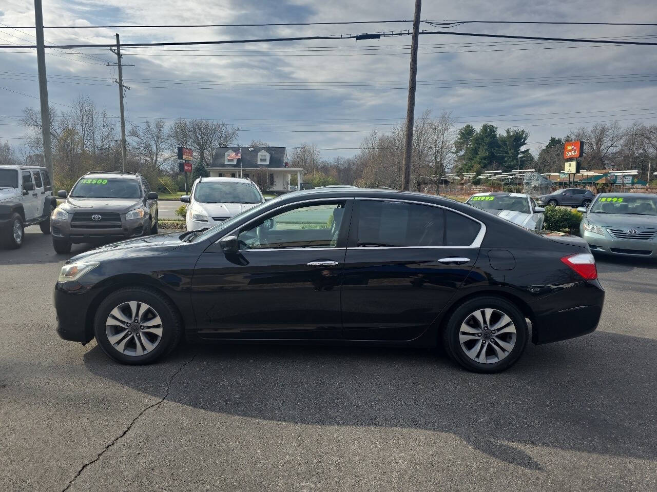
<svg viewBox="0 0 657 492">
<path fill-rule="evenodd" d="M 166 252 L 175 250 L 183 244 L 180 240 L 182 233 L 168 233 L 158 234 L 155 236 L 143 236 L 125 241 L 114 242 L 80 253 L 69 259 L 67 263 L 79 261 L 81 259 L 89 261 L 101 261 L 103 259 L 125 258 L 125 257 L 139 257 L 139 256 L 153 256 L 156 254 L 164 254 Z"/>
</svg>

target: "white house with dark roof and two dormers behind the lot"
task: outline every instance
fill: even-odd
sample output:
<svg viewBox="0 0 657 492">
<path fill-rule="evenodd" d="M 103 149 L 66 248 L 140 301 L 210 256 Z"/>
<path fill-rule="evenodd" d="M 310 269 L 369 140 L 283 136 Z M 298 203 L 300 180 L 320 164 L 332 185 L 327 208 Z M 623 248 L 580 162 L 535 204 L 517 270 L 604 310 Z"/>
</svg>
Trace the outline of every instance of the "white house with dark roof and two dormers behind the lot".
<svg viewBox="0 0 657 492">
<path fill-rule="evenodd" d="M 212 177 L 253 177 L 261 169 L 269 175 L 268 191 L 289 191 L 292 173 L 303 187 L 304 169 L 288 167 L 285 147 L 219 147 L 208 166 Z"/>
</svg>

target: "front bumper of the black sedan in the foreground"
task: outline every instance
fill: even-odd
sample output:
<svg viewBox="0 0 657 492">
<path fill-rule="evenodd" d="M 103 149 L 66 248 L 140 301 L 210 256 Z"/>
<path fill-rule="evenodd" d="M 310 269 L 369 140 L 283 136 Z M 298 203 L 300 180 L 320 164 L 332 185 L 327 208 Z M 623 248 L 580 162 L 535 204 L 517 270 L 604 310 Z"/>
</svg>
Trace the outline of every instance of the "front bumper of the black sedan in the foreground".
<svg viewBox="0 0 657 492">
<path fill-rule="evenodd" d="M 57 282 L 54 293 L 57 334 L 70 342 L 93 339 L 93 319 L 88 319 L 91 293 L 79 282 Z"/>
</svg>

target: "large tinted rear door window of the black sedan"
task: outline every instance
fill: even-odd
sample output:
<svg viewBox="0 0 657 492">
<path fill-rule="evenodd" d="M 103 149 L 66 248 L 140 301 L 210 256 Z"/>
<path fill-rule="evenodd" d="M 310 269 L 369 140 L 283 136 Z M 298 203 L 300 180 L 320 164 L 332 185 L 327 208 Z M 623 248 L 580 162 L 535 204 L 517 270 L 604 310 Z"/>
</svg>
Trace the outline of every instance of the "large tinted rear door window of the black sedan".
<svg viewBox="0 0 657 492">
<path fill-rule="evenodd" d="M 443 209 L 404 202 L 359 202 L 359 248 L 443 246 Z"/>
</svg>

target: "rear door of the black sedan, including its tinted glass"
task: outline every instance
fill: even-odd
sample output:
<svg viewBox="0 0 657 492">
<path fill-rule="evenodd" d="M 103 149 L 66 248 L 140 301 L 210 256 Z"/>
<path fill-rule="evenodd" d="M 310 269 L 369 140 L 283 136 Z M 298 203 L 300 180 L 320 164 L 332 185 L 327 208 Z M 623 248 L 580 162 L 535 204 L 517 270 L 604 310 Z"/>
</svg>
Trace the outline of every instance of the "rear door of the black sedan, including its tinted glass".
<svg viewBox="0 0 657 492">
<path fill-rule="evenodd" d="M 463 284 L 485 230 L 440 206 L 355 200 L 342 281 L 344 338 L 417 338 Z"/>
</svg>

